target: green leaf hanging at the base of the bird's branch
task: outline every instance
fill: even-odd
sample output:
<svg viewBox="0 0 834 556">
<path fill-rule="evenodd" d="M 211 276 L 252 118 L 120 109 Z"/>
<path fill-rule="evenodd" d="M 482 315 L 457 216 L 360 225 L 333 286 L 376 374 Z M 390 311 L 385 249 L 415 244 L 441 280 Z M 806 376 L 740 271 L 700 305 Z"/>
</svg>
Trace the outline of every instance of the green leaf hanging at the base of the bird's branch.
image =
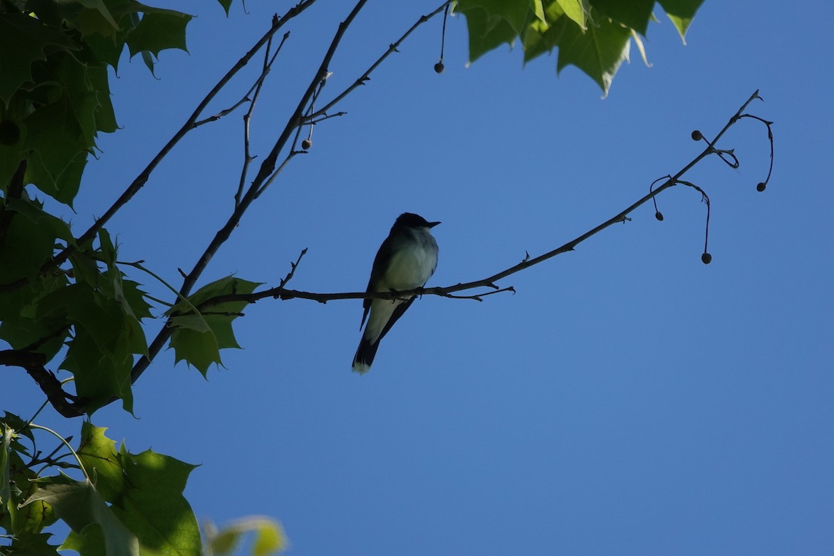
<svg viewBox="0 0 834 556">
<path fill-rule="evenodd" d="M 212 364 L 223 364 L 220 349 L 240 347 L 234 338 L 232 321 L 246 307 L 246 302 L 220 303 L 206 308 L 201 314 L 194 313 L 193 307 L 229 293 L 252 293 L 259 285 L 229 276 L 198 289 L 188 298 L 190 304 L 181 302 L 170 309 L 171 325 L 176 327 L 170 344 L 176 354 L 175 363 L 184 360 L 203 376 Z"/>
</svg>

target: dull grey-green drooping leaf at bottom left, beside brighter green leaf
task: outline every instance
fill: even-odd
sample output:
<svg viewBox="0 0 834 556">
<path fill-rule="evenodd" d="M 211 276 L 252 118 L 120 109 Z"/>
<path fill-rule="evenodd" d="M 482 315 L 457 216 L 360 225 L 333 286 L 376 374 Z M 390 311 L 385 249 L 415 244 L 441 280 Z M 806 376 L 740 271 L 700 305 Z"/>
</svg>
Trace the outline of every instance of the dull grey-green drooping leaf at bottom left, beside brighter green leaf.
<svg viewBox="0 0 834 556">
<path fill-rule="evenodd" d="M 75 533 L 93 533 L 98 529 L 108 556 L 138 556 L 137 538 L 118 520 L 88 479 L 75 481 L 64 474 L 39 479 L 38 490 L 24 505 L 36 501 L 51 504 Z"/>
</svg>

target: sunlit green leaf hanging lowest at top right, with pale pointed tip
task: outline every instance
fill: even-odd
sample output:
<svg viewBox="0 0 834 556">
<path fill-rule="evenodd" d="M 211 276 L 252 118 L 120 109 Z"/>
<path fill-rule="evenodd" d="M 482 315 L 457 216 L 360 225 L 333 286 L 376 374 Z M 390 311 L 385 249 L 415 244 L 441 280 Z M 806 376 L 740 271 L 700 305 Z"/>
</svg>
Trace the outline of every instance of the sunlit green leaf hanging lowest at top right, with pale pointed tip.
<svg viewBox="0 0 834 556">
<path fill-rule="evenodd" d="M 631 31 L 605 19 L 596 23 L 585 33 L 573 24 L 565 25 L 559 38 L 556 72 L 574 65 L 587 73 L 607 95 L 614 74 L 620 64 L 628 60 Z"/>
</svg>

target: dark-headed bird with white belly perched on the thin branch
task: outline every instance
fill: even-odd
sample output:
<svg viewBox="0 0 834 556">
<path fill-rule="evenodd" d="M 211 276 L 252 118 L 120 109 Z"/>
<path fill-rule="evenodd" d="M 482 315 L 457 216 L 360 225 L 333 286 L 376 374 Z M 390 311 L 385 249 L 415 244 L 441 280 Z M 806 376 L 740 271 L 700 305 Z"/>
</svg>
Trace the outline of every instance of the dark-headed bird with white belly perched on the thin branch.
<svg viewBox="0 0 834 556">
<path fill-rule="evenodd" d="M 379 246 L 370 271 L 368 293 L 405 291 L 422 288 L 437 268 L 437 242 L 429 232 L 439 222 L 427 222 L 412 213 L 402 213 L 391 227 L 388 238 Z M 414 296 L 407 299 L 365 299 L 362 323 L 368 318 L 359 348 L 354 357 L 354 371 L 364 373 L 379 348 L 379 341 L 403 316 L 405 309 L 414 303 Z"/>
</svg>

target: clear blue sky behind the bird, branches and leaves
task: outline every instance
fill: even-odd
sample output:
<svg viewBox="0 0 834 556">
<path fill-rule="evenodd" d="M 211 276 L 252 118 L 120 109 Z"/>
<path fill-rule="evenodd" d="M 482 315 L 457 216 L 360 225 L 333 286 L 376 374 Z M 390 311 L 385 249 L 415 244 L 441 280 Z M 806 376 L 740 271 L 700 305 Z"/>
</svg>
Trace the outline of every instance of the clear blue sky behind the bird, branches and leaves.
<svg viewBox="0 0 834 556">
<path fill-rule="evenodd" d="M 275 4 L 247 8 L 226 20 L 201 6 L 190 53 L 164 52 L 158 80 L 123 62 L 112 83 L 123 129 L 102 138 L 76 213 L 65 211 L 76 229 L 118 197 Z M 324 98 L 434 8 L 369 3 Z M 687 174 L 711 198 L 708 266 L 706 206 L 673 188 L 658 198 L 662 223 L 650 203 L 500 284 L 515 295 L 418 300 L 364 376 L 350 372 L 359 301 L 265 300 L 237 321 L 244 349 L 224 352 L 208 381 L 163 352 L 135 385 L 137 418 L 114 404 L 93 423 L 133 452 L 201 463 L 186 491 L 198 518 L 273 516 L 293 554 L 831 553 L 834 9 L 803 8 L 707 0 L 686 47 L 657 8 L 653 67 L 632 49 L 604 100 L 575 68 L 556 78 L 555 56 L 523 68 L 518 49 L 500 48 L 465 67 L 459 18 L 437 75 L 440 19 L 426 24 L 339 105 L 346 116 L 317 126 L 310 153 L 203 283 L 236 273 L 276 285 L 309 248 L 292 287 L 362 290 L 404 211 L 443 222 L 429 285 L 485 278 L 640 198 L 700 152 L 693 129 L 711 137 L 756 89 L 766 102 L 749 112 L 775 122 L 771 183 L 756 192 L 766 129 L 739 123 L 722 143 L 738 170 L 716 158 Z M 348 11 L 324 2 L 290 27 L 255 113 L 261 158 Z M 214 108 L 248 82 L 233 88 Z M 191 268 L 232 208 L 239 115 L 193 133 L 113 218 L 123 260 L 174 283 Z M 4 375 L 2 407 L 33 413 L 33 383 Z M 41 422 L 78 429 L 49 412 Z"/>
</svg>

